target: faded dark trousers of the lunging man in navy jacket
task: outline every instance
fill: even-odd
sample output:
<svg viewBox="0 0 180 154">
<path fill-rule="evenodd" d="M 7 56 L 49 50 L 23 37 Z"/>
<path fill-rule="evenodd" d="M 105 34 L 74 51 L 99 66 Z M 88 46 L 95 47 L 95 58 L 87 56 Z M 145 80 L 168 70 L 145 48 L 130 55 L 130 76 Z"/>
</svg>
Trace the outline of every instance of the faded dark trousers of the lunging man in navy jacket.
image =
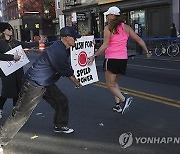
<svg viewBox="0 0 180 154">
<path fill-rule="evenodd" d="M 1 128 L 0 145 L 8 144 L 26 123 L 41 98 L 45 99 L 54 108 L 55 125 L 66 126 L 68 124 L 68 100 L 60 89 L 55 84 L 49 87 L 38 87 L 26 81 L 22 86 L 15 108 Z"/>
</svg>

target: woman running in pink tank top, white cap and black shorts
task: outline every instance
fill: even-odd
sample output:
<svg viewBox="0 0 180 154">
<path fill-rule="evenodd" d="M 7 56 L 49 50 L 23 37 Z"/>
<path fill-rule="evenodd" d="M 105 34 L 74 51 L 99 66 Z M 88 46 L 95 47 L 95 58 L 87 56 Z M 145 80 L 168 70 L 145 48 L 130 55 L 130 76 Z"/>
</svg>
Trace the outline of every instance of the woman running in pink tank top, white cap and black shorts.
<svg viewBox="0 0 180 154">
<path fill-rule="evenodd" d="M 108 24 L 104 28 L 104 41 L 95 54 L 89 57 L 89 64 L 94 61 L 95 57 L 105 52 L 103 68 L 106 85 L 115 98 L 113 110 L 123 114 L 132 101 L 132 97 L 123 96 L 118 85 L 120 76 L 126 73 L 128 37 L 132 37 L 144 49 L 147 57 L 150 57 L 151 54 L 148 52 L 145 42 L 130 26 L 124 24 L 118 7 L 110 7 L 108 11 L 104 12 L 104 15 L 108 19 Z"/>
</svg>

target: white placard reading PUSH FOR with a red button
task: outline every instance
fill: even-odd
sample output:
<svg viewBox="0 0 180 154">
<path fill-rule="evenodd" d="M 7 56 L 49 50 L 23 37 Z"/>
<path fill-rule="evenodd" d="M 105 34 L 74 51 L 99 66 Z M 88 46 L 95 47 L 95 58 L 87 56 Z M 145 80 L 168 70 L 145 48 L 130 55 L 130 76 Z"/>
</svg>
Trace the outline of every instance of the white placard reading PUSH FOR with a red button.
<svg viewBox="0 0 180 154">
<path fill-rule="evenodd" d="M 71 66 L 75 77 L 85 86 L 99 81 L 95 61 L 87 64 L 88 57 L 94 54 L 94 36 L 83 36 L 71 47 Z"/>
</svg>

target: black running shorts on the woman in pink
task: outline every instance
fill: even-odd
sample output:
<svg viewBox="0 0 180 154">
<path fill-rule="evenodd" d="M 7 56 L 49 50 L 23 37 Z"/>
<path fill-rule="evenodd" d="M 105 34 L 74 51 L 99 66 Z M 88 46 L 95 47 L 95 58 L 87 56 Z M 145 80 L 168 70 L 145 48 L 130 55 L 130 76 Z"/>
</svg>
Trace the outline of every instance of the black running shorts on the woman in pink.
<svg viewBox="0 0 180 154">
<path fill-rule="evenodd" d="M 105 59 L 103 70 L 110 71 L 113 74 L 126 74 L 127 59 Z"/>
</svg>

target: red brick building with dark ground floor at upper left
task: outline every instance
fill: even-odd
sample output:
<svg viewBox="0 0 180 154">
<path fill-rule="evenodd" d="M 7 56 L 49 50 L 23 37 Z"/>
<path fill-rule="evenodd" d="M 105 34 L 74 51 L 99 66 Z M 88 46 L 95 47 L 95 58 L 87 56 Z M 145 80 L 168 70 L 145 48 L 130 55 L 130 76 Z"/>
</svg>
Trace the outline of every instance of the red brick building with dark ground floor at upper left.
<svg viewBox="0 0 180 154">
<path fill-rule="evenodd" d="M 18 40 L 34 40 L 34 36 L 46 35 L 50 39 L 55 36 L 54 0 L 1 0 L 4 6 L 3 21 L 14 28 L 14 36 Z"/>
</svg>

